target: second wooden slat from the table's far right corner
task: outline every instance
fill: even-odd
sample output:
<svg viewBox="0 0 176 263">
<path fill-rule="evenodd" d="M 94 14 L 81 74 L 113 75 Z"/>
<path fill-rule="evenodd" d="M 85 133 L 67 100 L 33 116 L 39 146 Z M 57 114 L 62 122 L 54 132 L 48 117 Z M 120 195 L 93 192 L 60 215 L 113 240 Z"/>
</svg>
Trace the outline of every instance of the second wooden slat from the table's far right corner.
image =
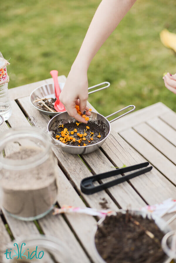
<svg viewBox="0 0 176 263">
<path fill-rule="evenodd" d="M 176 146 L 176 131 L 160 118 L 152 118 L 147 123 L 169 142 Z"/>
</svg>

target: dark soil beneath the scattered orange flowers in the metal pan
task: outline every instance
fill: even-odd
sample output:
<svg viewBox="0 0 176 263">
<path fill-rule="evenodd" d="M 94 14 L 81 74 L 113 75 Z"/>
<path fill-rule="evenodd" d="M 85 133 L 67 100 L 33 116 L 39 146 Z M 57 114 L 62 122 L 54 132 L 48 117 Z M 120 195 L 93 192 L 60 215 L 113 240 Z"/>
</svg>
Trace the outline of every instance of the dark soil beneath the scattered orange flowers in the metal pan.
<svg viewBox="0 0 176 263">
<path fill-rule="evenodd" d="M 69 132 L 76 128 L 77 132 L 71 136 L 76 138 L 76 140 L 79 140 L 80 137 L 77 135 L 77 133 L 84 134 L 84 129 L 86 130 L 86 126 L 89 126 L 89 129 L 87 129 L 87 131 L 86 131 L 86 133 L 87 133 L 87 136 L 85 136 L 86 140 L 82 140 L 80 143 L 75 141 L 75 142 L 72 142 L 71 144 L 69 141 L 67 141 L 68 142 L 67 145 L 83 146 L 84 143 L 87 145 L 93 145 L 96 142 L 100 142 L 101 140 L 103 140 L 106 137 L 106 135 L 109 132 L 109 129 L 106 126 L 106 124 L 101 120 L 98 120 L 98 121 L 91 121 L 90 120 L 90 121 L 88 121 L 87 124 L 80 123 L 79 126 L 76 125 L 76 122 L 78 122 L 78 121 L 76 121 L 76 120 L 73 121 L 73 119 L 70 119 L 67 121 L 65 119 L 61 119 L 59 121 L 55 121 L 50 128 L 50 131 L 53 131 L 52 136 L 55 138 L 56 135 L 60 135 L 59 132 L 61 132 L 64 128 L 67 128 Z M 63 124 L 63 128 L 62 127 L 58 128 L 62 124 Z M 94 137 L 93 137 L 94 140 L 90 140 L 90 133 L 91 132 L 94 133 Z M 99 135 L 99 133 L 101 135 L 100 138 L 97 137 L 97 135 Z M 89 142 L 87 139 L 89 140 Z"/>
</svg>

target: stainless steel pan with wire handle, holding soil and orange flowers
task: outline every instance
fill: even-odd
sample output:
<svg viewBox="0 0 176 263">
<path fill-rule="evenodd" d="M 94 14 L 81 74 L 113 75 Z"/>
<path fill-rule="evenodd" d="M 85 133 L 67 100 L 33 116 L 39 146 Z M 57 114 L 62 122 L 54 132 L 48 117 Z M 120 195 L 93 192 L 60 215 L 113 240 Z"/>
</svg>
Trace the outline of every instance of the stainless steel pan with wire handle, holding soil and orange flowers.
<svg viewBox="0 0 176 263">
<path fill-rule="evenodd" d="M 113 120 L 111 121 L 108 121 L 108 118 L 121 112 L 121 111 L 124 111 L 128 108 L 132 107 L 133 109 L 127 111 L 126 113 L 114 118 Z M 90 116 L 90 119 L 89 119 L 89 123 L 91 121 L 98 121 L 98 120 L 101 120 L 103 121 L 106 126 L 108 127 L 108 133 L 106 135 L 106 137 L 97 142 L 97 143 L 94 143 L 92 145 L 87 145 L 87 146 L 72 146 L 72 145 L 65 145 L 64 143 L 60 142 L 59 140 L 56 140 L 54 137 L 52 137 L 53 139 L 53 142 L 55 143 L 55 145 L 57 145 L 58 147 L 62 148 L 65 152 L 69 152 L 71 154 L 87 154 L 87 153 L 90 153 L 90 152 L 93 152 L 95 150 L 97 150 L 99 147 L 101 147 L 101 145 L 105 142 L 105 140 L 107 139 L 107 137 L 109 136 L 110 132 L 111 132 L 111 125 L 110 123 L 112 123 L 113 121 L 116 121 L 117 119 L 125 116 L 126 114 L 129 114 L 130 112 L 134 111 L 136 109 L 136 107 L 134 105 L 129 105 L 123 109 L 120 109 L 119 111 L 116 111 L 114 112 L 113 114 L 110 114 L 109 116 L 106 116 L 104 117 L 103 115 L 97 113 L 97 112 L 94 112 L 94 111 L 91 111 L 91 116 Z M 53 125 L 53 123 L 55 123 L 55 121 L 59 121 L 59 120 L 65 120 L 65 122 L 72 122 L 74 121 L 75 119 L 70 117 L 67 113 L 67 111 L 63 112 L 63 113 L 60 113 L 60 114 L 57 114 L 56 116 L 54 116 L 48 123 L 48 127 L 47 127 L 47 130 L 48 130 L 48 133 L 51 133 L 51 127 Z"/>
</svg>

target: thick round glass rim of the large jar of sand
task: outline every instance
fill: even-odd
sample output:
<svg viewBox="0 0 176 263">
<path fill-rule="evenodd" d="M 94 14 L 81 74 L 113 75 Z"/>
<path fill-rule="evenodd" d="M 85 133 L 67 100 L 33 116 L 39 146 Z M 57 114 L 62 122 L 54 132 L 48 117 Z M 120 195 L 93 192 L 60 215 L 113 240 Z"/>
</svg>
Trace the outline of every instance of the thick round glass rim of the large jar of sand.
<svg viewBox="0 0 176 263">
<path fill-rule="evenodd" d="M 43 163 L 46 159 L 48 159 L 48 153 L 50 149 L 50 140 L 48 134 L 45 133 L 43 129 L 37 129 L 35 127 L 18 127 L 18 128 L 10 128 L 9 130 L 1 133 L 0 140 L 0 151 L 6 143 L 14 140 L 15 138 L 36 138 L 43 142 L 45 142 L 45 147 L 41 153 L 35 155 L 35 160 L 33 157 L 29 157 L 23 160 L 13 160 L 1 157 L 0 155 L 0 168 L 11 169 L 11 170 L 21 170 L 21 169 L 30 169 L 35 167 L 41 163 Z"/>
</svg>

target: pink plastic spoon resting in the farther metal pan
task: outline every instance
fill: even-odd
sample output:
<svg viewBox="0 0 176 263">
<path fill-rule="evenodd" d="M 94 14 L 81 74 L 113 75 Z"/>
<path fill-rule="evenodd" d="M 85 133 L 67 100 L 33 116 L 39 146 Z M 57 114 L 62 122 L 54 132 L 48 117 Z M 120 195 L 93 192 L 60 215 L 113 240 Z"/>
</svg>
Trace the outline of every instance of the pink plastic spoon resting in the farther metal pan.
<svg viewBox="0 0 176 263">
<path fill-rule="evenodd" d="M 56 96 L 56 101 L 54 103 L 54 108 L 56 111 L 58 112 L 63 112 L 66 111 L 64 105 L 62 104 L 62 102 L 60 102 L 59 100 L 59 96 L 60 96 L 60 86 L 59 86 L 59 82 L 58 82 L 58 71 L 57 70 L 52 70 L 50 71 L 50 74 L 54 80 L 54 87 L 55 87 L 55 96 Z"/>
</svg>

